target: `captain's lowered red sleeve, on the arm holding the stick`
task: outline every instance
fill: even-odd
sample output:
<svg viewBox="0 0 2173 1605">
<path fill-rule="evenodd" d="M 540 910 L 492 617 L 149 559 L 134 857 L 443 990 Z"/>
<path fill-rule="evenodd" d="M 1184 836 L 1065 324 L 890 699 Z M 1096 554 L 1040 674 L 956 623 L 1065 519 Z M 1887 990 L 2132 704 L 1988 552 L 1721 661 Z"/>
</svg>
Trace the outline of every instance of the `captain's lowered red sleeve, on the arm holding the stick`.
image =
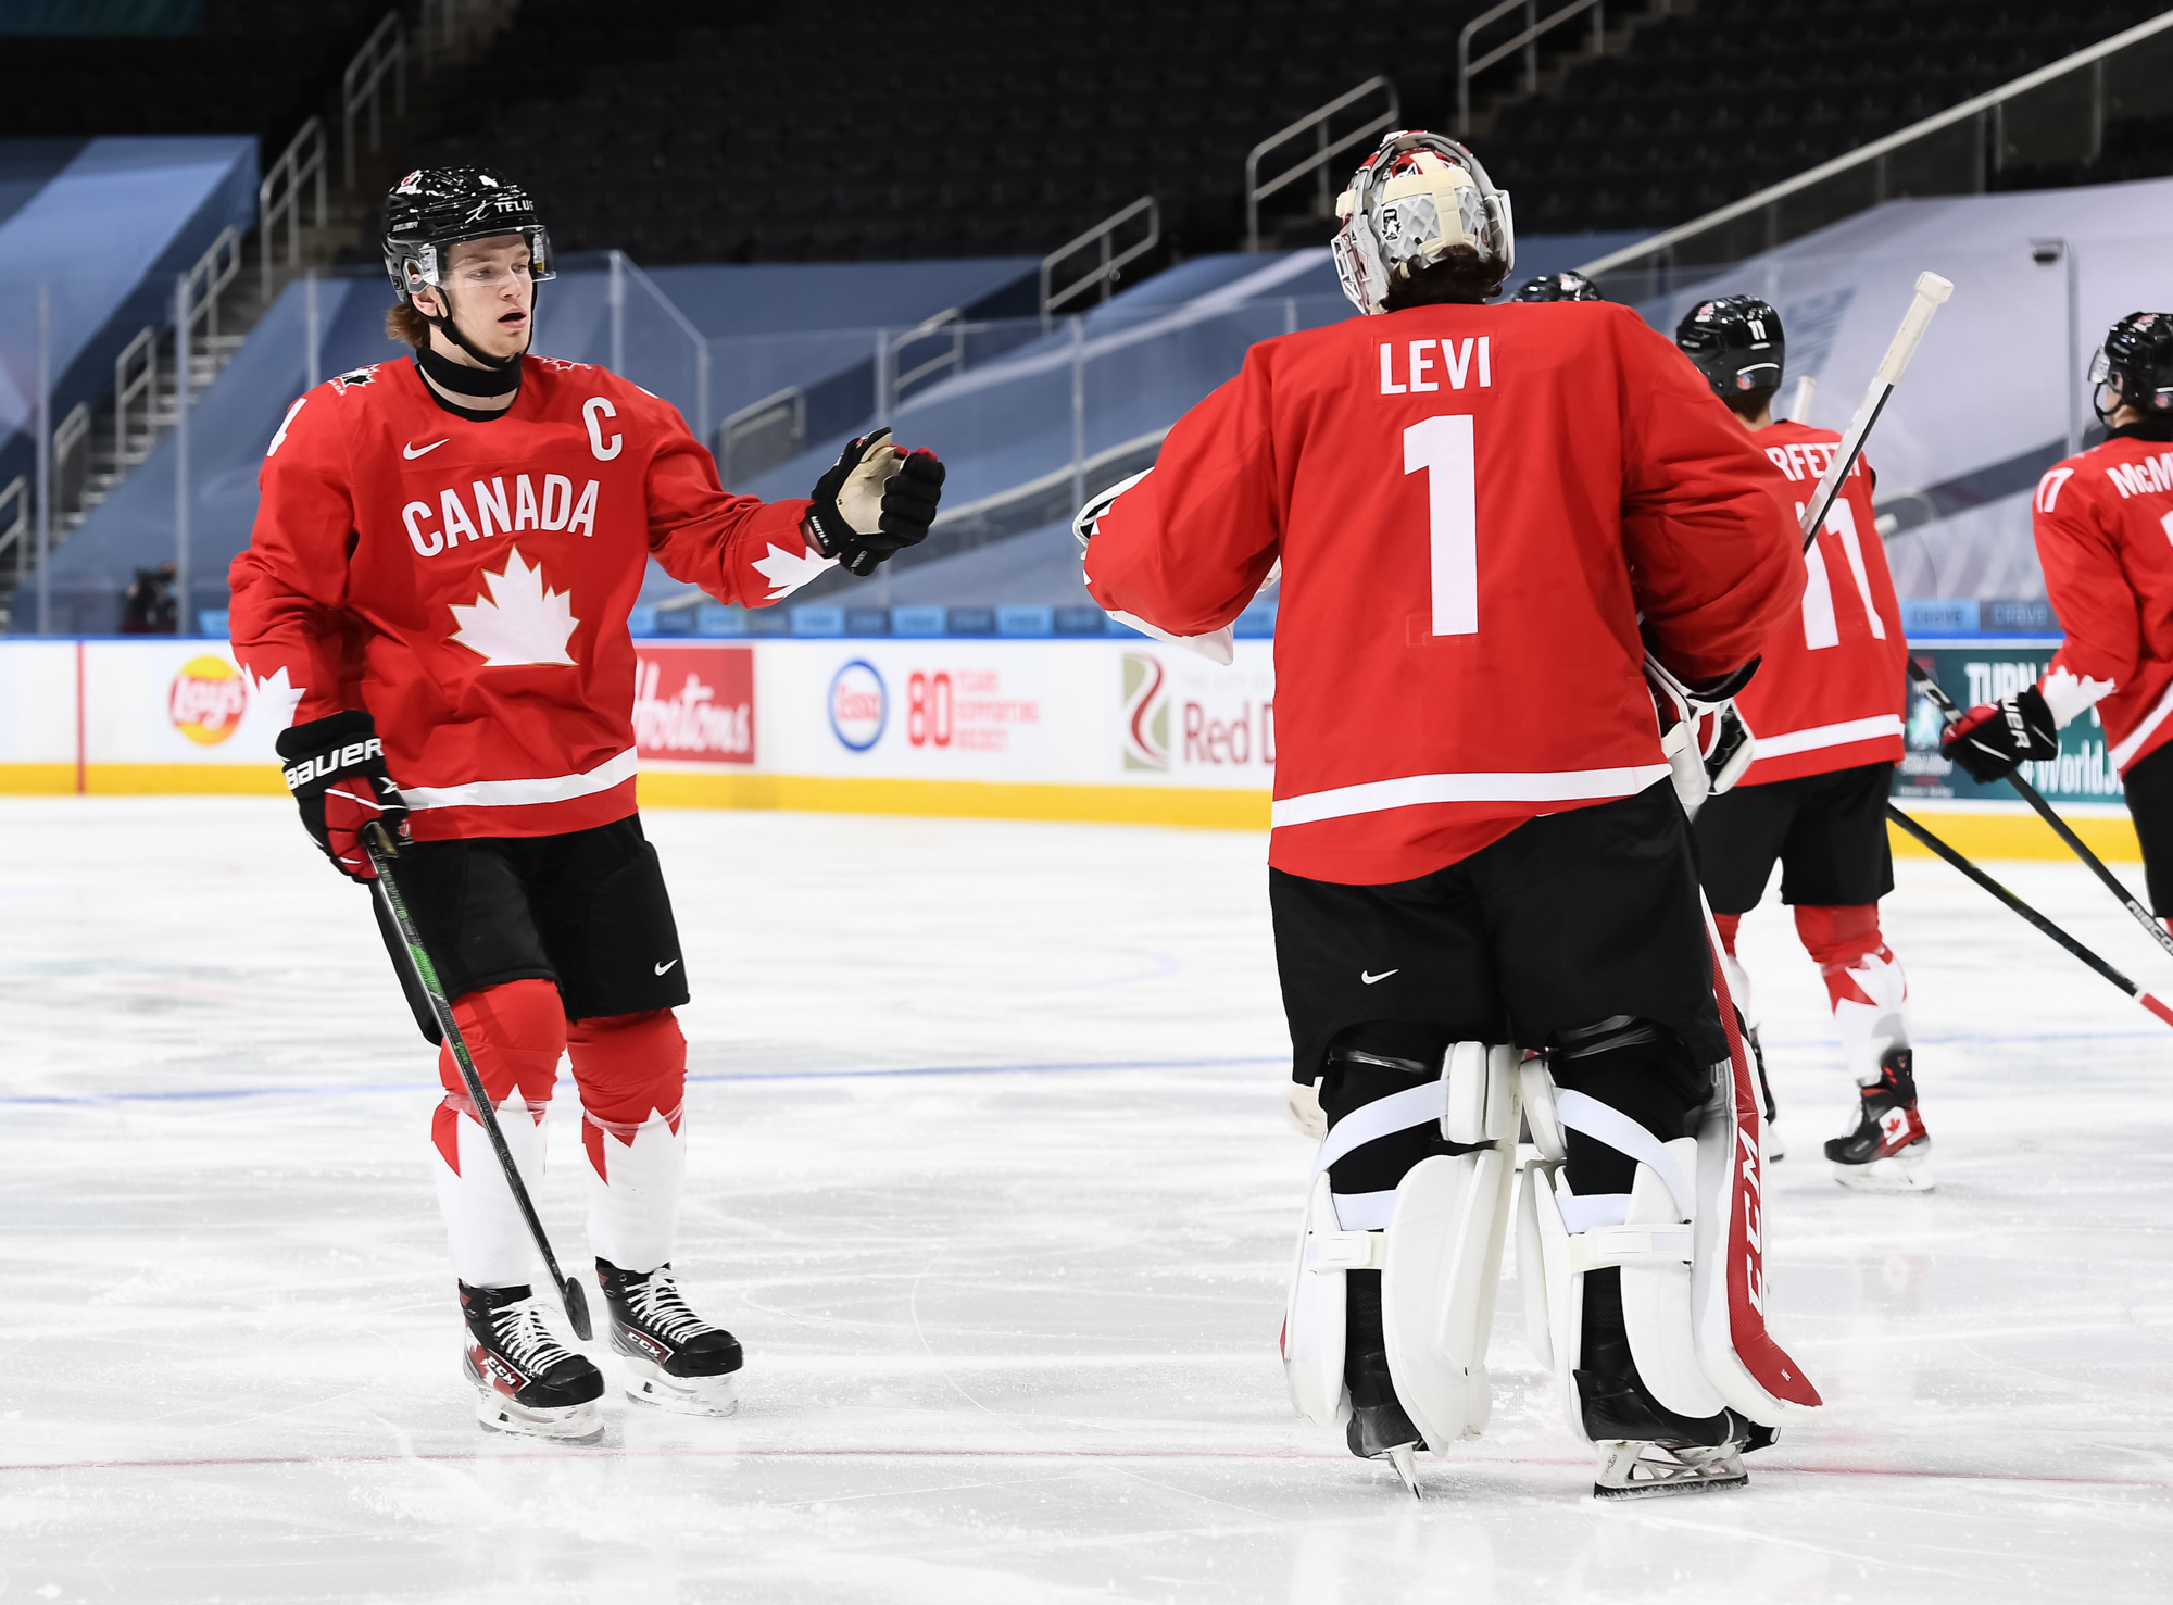
<svg viewBox="0 0 2173 1605">
<path fill-rule="evenodd" d="M 293 722 L 361 707 L 348 605 L 354 502 L 343 391 L 326 381 L 289 411 L 256 470 L 256 524 L 228 568 L 235 657 Z"/>
</svg>

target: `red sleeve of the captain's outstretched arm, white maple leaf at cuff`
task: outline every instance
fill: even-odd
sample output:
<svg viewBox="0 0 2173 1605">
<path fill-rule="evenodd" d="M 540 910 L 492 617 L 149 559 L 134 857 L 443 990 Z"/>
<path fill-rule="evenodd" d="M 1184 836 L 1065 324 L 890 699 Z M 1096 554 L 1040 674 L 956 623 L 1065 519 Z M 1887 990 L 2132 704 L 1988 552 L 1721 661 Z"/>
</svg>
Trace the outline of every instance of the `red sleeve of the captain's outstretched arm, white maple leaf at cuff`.
<svg viewBox="0 0 2173 1605">
<path fill-rule="evenodd" d="M 837 565 L 800 533 L 804 496 L 784 502 L 732 496 L 678 409 L 652 405 L 661 418 L 648 478 L 650 555 L 665 574 L 700 585 L 719 602 L 769 607 Z"/>
</svg>

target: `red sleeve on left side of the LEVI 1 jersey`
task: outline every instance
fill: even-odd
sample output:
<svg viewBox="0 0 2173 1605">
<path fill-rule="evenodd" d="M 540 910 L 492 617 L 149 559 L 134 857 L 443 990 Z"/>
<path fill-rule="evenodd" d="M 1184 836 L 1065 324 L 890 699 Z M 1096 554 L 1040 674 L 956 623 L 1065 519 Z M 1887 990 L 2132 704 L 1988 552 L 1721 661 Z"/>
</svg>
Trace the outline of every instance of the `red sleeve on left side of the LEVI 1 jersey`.
<svg viewBox="0 0 2173 1605">
<path fill-rule="evenodd" d="M 1086 592 L 1171 635 L 1208 635 L 1245 611 L 1282 542 L 1269 348 L 1169 431 L 1154 470 L 1102 515 Z M 1182 531 L 1182 539 L 1165 539 Z"/>
</svg>

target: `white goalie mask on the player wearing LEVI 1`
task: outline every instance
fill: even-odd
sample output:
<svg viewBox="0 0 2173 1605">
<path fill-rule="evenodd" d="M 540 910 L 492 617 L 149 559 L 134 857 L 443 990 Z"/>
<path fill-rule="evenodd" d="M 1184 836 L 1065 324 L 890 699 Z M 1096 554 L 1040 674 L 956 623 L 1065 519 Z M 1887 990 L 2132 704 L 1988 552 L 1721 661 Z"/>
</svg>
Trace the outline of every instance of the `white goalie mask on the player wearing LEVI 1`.
<svg viewBox="0 0 2173 1605">
<path fill-rule="evenodd" d="M 1365 159 L 1343 198 L 1332 241 L 1336 278 L 1360 313 L 1386 311 L 1389 291 L 1452 252 L 1467 252 L 1493 281 L 1517 265 L 1508 194 L 1454 139 L 1393 133 Z"/>
</svg>

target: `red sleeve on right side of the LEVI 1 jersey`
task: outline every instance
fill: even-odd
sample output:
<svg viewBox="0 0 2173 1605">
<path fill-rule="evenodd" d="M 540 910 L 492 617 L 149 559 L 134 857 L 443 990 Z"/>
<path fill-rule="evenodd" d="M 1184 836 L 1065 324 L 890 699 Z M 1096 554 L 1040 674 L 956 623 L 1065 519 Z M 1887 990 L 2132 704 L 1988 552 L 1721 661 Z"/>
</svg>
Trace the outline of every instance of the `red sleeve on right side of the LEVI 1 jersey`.
<svg viewBox="0 0 2173 1605">
<path fill-rule="evenodd" d="M 1691 361 L 1617 320 L 1623 550 L 1658 657 L 1686 679 L 1743 668 L 1804 594 L 1784 485 Z"/>
</svg>

